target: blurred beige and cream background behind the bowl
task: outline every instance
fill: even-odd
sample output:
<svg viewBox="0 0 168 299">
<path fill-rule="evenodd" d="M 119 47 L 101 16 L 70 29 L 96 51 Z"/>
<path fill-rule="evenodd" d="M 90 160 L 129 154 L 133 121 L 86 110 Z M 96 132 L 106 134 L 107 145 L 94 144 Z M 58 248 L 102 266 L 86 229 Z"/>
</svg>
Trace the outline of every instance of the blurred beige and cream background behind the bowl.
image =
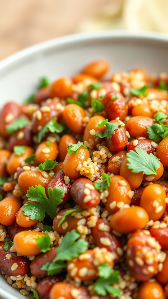
<svg viewBox="0 0 168 299">
<path fill-rule="evenodd" d="M 105 29 L 168 33 L 168 0 L 0 0 L 0 60 L 57 36 Z"/>
</svg>

